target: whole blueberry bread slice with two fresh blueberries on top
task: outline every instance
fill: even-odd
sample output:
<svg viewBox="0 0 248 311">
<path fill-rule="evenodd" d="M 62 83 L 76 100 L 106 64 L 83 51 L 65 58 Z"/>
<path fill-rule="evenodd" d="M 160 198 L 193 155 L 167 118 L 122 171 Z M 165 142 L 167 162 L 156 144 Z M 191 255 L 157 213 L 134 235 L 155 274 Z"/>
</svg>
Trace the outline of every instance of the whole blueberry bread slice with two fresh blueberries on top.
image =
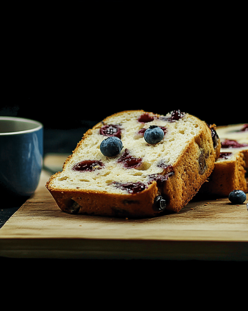
<svg viewBox="0 0 248 311">
<path fill-rule="evenodd" d="M 211 135 L 212 133 L 212 135 Z M 214 168 L 220 144 L 200 119 L 130 110 L 89 129 L 46 187 L 64 212 L 158 216 L 179 211 Z"/>
</svg>

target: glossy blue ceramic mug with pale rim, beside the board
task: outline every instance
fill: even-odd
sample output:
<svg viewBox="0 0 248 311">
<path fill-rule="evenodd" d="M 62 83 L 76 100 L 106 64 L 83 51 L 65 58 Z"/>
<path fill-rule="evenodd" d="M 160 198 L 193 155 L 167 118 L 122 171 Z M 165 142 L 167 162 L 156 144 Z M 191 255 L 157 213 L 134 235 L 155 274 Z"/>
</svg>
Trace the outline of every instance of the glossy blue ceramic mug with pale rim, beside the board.
<svg viewBox="0 0 248 311">
<path fill-rule="evenodd" d="M 30 197 L 38 186 L 42 165 L 42 123 L 0 116 L 0 195 L 4 202 Z"/>
</svg>

